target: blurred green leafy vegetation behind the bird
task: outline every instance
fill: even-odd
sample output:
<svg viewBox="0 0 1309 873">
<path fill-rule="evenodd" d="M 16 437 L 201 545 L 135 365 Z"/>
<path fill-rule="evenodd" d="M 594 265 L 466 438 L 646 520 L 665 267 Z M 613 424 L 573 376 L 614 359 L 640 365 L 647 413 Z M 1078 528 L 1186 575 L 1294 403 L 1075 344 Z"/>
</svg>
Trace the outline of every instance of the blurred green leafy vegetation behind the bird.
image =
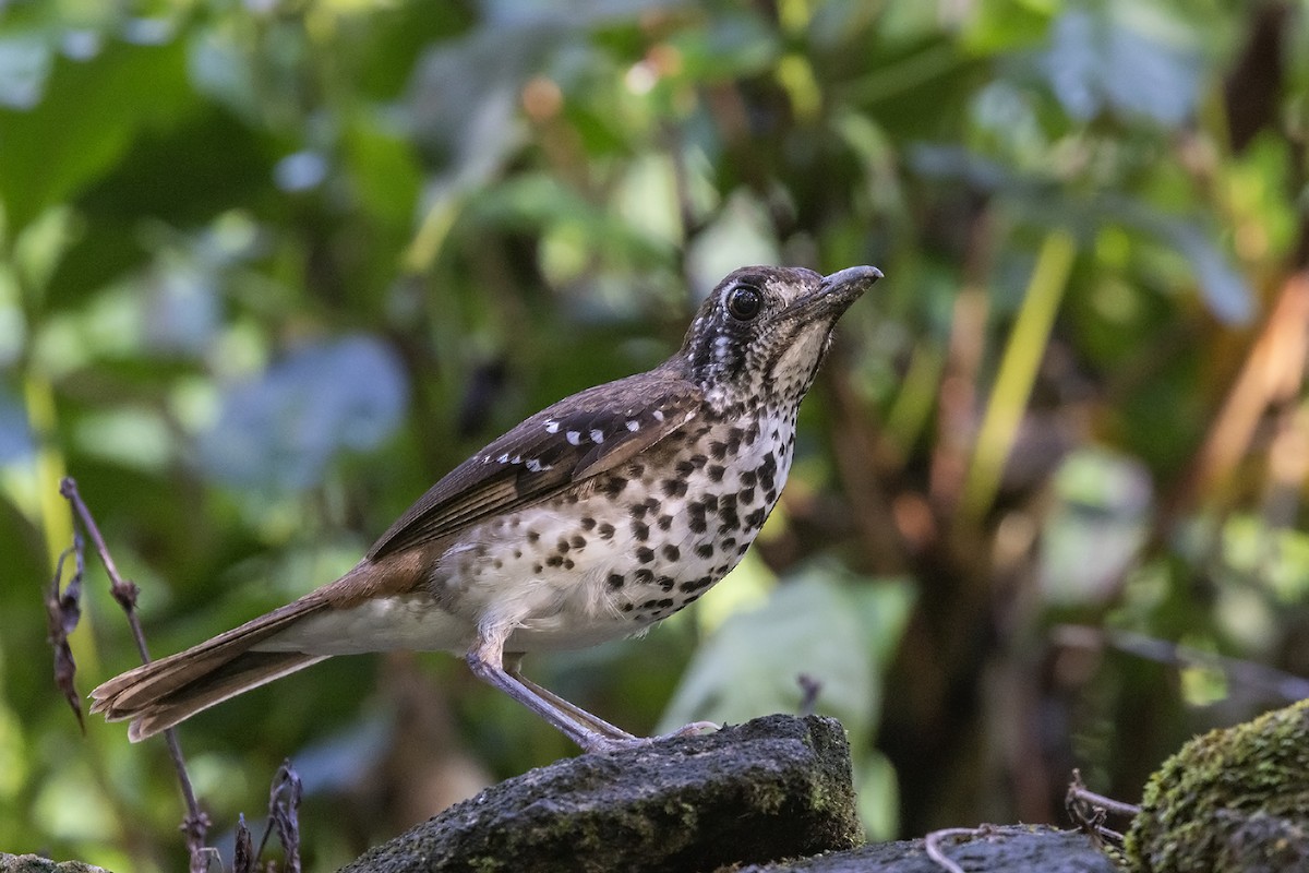
<svg viewBox="0 0 1309 873">
<path fill-rule="evenodd" d="M 529 671 L 640 732 L 839 715 L 874 836 L 1136 800 L 1309 694 L 1306 135 L 1293 0 L 0 4 L 0 848 L 185 863 L 162 745 L 51 681 L 63 474 L 173 652 L 753 262 L 886 272 L 764 542 Z M 135 662 L 102 580 L 82 692 Z M 571 753 L 408 654 L 181 738 L 220 843 L 292 758 L 313 869 Z"/>
</svg>

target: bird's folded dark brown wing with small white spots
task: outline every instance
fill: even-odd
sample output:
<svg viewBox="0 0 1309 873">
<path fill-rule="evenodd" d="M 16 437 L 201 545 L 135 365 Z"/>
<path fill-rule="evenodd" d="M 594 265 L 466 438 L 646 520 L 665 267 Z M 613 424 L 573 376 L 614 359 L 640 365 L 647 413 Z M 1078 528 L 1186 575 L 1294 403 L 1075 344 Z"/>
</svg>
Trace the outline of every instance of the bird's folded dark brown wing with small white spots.
<svg viewBox="0 0 1309 873">
<path fill-rule="evenodd" d="M 575 394 L 533 415 L 410 507 L 368 552 L 380 560 L 613 470 L 686 425 L 700 390 L 653 370 Z"/>
</svg>

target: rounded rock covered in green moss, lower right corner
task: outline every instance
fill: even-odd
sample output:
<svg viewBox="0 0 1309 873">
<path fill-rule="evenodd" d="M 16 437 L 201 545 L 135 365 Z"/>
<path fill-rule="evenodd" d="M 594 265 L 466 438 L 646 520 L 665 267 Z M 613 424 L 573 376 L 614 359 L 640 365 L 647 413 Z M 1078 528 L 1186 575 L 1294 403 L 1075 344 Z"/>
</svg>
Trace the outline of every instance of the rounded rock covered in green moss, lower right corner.
<svg viewBox="0 0 1309 873">
<path fill-rule="evenodd" d="M 1309 865 L 1309 700 L 1212 730 L 1145 784 L 1126 853 L 1138 873 Z"/>
</svg>

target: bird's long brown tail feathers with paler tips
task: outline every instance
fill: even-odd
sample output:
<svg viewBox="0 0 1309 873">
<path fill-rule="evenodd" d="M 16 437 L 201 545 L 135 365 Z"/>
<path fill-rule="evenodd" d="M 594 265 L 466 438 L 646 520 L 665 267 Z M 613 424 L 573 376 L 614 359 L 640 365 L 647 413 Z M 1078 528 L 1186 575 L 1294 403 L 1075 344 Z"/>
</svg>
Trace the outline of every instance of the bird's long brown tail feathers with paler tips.
<svg viewBox="0 0 1309 873">
<path fill-rule="evenodd" d="M 127 737 L 132 742 L 171 728 L 228 698 L 329 657 L 257 648 L 326 607 L 322 598 L 309 596 L 185 652 L 128 670 L 90 692 L 90 711 L 103 712 L 109 721 L 131 719 Z"/>
</svg>

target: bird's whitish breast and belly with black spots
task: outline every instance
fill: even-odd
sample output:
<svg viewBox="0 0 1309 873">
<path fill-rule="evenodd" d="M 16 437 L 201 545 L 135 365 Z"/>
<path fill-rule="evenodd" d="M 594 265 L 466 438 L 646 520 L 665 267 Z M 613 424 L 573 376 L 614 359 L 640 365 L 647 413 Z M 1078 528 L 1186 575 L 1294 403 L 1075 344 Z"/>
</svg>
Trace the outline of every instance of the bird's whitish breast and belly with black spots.
<svg viewBox="0 0 1309 873">
<path fill-rule="evenodd" d="M 509 650 L 640 632 L 740 563 L 791 469 L 793 427 L 762 408 L 685 428 L 589 488 L 470 531 L 439 561 L 435 594 L 512 623 Z"/>
</svg>

